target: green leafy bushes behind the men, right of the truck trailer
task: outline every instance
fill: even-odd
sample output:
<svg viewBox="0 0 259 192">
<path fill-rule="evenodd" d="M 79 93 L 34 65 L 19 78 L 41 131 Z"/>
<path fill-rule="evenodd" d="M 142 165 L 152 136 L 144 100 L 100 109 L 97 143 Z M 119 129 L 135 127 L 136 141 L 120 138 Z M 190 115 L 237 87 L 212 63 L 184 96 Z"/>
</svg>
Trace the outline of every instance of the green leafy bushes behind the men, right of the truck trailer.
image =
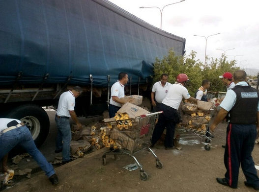
<svg viewBox="0 0 259 192">
<path fill-rule="evenodd" d="M 221 58 L 206 58 L 206 66 L 204 68 L 203 63 L 198 59 L 196 60 L 196 52 L 191 51 L 189 55 L 175 56 L 173 49 L 168 51 L 168 55 L 164 56 L 162 60 L 156 58 L 154 63 L 154 78 L 153 83 L 160 81 L 161 74 L 168 73 L 168 81 L 175 83 L 176 76 L 180 73 L 188 75 L 190 81 L 187 83 L 191 96 L 194 96 L 197 89 L 201 87 L 203 79 L 210 81 L 209 91 L 213 92 L 226 92 L 226 86 L 221 82 L 219 78 L 224 72 L 231 72 L 239 68 L 234 67 L 235 61 L 227 61 L 226 56 L 222 54 Z"/>
</svg>

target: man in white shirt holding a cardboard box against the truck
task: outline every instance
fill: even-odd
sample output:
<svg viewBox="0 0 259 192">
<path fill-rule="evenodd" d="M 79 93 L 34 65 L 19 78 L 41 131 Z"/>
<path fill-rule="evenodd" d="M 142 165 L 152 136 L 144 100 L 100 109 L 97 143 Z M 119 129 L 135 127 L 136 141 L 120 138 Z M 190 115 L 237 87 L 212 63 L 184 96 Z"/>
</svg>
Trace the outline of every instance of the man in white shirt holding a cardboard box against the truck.
<svg viewBox="0 0 259 192">
<path fill-rule="evenodd" d="M 120 109 L 121 104 L 125 103 L 125 101 L 120 98 L 125 96 L 124 85 L 127 84 L 128 80 L 128 74 L 126 72 L 120 72 L 117 82 L 113 84 L 111 88 L 111 99 L 109 104 L 110 118 L 115 117 L 115 113 Z"/>
</svg>

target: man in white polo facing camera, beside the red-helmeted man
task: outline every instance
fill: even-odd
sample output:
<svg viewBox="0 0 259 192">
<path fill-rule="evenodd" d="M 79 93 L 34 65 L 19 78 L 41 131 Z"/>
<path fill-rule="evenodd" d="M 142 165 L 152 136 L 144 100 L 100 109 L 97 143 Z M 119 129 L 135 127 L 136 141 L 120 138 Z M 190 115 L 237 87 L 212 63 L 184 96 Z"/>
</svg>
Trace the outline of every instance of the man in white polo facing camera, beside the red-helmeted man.
<svg viewBox="0 0 259 192">
<path fill-rule="evenodd" d="M 153 85 L 152 92 L 151 92 L 151 101 L 153 105 L 152 113 L 160 111 L 160 105 L 162 100 L 166 97 L 167 92 L 172 85 L 168 81 L 168 74 L 163 73 L 161 75 L 161 81 L 156 82 Z"/>
</svg>

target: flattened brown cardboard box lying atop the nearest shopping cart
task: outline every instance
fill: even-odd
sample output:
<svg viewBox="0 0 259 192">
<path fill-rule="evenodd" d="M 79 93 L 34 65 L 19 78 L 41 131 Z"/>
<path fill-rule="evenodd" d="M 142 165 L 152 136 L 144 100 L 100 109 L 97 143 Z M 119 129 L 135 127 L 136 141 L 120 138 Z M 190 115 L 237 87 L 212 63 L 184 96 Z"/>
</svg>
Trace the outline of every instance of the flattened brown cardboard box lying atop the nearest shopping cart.
<svg viewBox="0 0 259 192">
<path fill-rule="evenodd" d="M 147 110 L 144 110 L 143 108 L 131 104 L 131 103 L 125 103 L 119 110 L 118 113 L 127 113 L 131 119 L 135 119 L 136 117 L 139 117 L 141 115 L 149 114 L 150 112 Z"/>
</svg>

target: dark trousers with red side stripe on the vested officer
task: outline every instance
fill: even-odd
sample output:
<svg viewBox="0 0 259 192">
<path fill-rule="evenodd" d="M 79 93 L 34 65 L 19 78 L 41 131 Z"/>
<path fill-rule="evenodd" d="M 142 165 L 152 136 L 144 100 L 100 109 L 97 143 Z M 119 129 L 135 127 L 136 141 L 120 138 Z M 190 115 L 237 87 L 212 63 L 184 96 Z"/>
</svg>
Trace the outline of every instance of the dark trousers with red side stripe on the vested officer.
<svg viewBox="0 0 259 192">
<path fill-rule="evenodd" d="M 239 167 L 249 184 L 259 187 L 259 178 L 252 158 L 257 137 L 255 124 L 232 124 L 227 127 L 224 163 L 225 178 L 231 187 L 237 187 Z"/>
</svg>

